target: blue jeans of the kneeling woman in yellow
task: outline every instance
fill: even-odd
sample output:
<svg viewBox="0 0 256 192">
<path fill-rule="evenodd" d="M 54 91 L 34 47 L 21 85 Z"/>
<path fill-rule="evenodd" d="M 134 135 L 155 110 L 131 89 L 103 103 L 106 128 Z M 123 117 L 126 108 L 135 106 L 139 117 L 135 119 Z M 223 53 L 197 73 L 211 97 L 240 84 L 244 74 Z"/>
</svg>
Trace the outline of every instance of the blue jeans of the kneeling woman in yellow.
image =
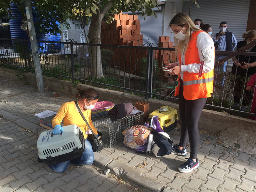
<svg viewBox="0 0 256 192">
<path fill-rule="evenodd" d="M 49 167 L 56 173 L 62 173 L 66 171 L 69 163 L 73 163 L 75 165 L 91 165 L 94 161 L 92 145 L 87 139 L 84 140 L 84 144 L 85 144 L 85 151 L 83 152 L 83 155 L 81 157 L 78 157 L 71 161 L 65 161 L 62 163 L 57 163 L 55 165 L 49 165 Z"/>
</svg>

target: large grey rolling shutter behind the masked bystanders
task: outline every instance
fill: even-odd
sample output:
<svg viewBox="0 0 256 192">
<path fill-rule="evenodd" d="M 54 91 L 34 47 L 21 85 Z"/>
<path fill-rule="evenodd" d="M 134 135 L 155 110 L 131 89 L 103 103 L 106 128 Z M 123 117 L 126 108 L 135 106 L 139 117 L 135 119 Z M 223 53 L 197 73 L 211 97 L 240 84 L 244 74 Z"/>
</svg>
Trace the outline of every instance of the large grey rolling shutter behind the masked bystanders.
<svg viewBox="0 0 256 192">
<path fill-rule="evenodd" d="M 249 0 L 215 0 L 203 1 L 197 0 L 200 8 L 191 5 L 191 19 L 201 19 L 203 23 L 210 24 L 212 27 L 212 35 L 220 31 L 220 22 L 226 21 L 228 23 L 227 29 L 235 35 L 237 42 L 242 41 L 242 34 L 246 31 Z M 189 3 L 183 3 L 183 13 L 189 15 Z"/>
</svg>

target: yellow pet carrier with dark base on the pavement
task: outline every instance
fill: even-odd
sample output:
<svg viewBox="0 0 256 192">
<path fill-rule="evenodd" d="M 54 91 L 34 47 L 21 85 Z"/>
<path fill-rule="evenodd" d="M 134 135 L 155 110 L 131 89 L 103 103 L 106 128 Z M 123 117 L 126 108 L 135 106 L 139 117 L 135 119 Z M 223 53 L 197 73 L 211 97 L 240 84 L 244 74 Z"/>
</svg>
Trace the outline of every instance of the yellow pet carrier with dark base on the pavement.
<svg viewBox="0 0 256 192">
<path fill-rule="evenodd" d="M 158 121 L 160 122 L 161 128 L 163 128 L 164 132 L 169 132 L 176 127 L 177 121 L 179 120 L 177 110 L 168 106 L 163 106 L 161 108 L 167 108 L 167 111 L 159 111 L 159 109 L 153 111 L 149 114 L 148 123 L 150 124 L 153 116 L 158 115 Z"/>
</svg>

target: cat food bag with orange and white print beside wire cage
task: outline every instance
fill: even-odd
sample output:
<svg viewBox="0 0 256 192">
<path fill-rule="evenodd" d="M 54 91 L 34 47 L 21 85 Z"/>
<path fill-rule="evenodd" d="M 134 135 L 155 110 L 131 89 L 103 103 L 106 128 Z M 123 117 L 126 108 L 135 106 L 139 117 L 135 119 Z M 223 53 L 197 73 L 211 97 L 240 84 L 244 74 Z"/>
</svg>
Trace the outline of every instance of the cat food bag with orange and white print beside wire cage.
<svg viewBox="0 0 256 192">
<path fill-rule="evenodd" d="M 148 142 L 150 128 L 144 125 L 135 125 L 124 130 L 122 134 L 124 135 L 124 145 L 137 150 Z"/>
</svg>

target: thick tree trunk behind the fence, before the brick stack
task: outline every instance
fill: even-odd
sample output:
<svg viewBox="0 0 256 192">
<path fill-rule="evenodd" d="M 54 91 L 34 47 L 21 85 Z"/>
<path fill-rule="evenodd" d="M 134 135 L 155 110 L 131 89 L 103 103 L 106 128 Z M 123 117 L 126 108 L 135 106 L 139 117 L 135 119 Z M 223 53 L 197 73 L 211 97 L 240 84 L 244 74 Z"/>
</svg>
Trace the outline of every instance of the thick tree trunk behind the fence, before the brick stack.
<svg viewBox="0 0 256 192">
<path fill-rule="evenodd" d="M 100 1 L 98 0 L 98 7 L 100 7 Z M 88 38 L 89 43 L 101 44 L 101 15 L 100 10 L 96 10 L 96 14 L 92 14 L 92 21 L 89 27 Z M 90 63 L 91 63 L 91 76 L 102 78 L 104 77 L 101 67 L 101 47 L 89 46 Z"/>
</svg>

